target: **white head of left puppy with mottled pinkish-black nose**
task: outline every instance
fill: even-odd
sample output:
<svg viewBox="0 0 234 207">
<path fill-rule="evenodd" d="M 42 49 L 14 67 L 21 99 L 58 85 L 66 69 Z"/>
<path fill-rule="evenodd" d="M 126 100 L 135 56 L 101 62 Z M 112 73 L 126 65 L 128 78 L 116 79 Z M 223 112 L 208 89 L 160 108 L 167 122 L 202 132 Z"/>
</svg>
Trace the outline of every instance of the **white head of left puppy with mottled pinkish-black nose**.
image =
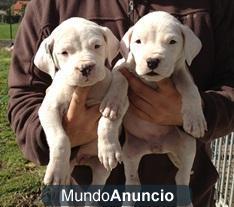
<svg viewBox="0 0 234 207">
<path fill-rule="evenodd" d="M 90 86 L 105 78 L 105 62 L 118 54 L 119 41 L 106 28 L 83 18 L 70 18 L 44 39 L 34 64 L 54 78 L 57 70 L 69 85 Z"/>
</svg>

